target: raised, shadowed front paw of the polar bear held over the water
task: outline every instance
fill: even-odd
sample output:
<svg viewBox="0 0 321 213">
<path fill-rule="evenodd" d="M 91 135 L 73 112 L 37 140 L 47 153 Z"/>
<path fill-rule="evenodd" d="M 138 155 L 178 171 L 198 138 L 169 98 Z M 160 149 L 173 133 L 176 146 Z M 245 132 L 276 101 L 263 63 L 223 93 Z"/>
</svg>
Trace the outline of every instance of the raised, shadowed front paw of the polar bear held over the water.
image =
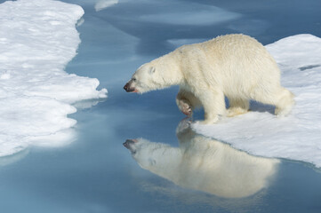
<svg viewBox="0 0 321 213">
<path fill-rule="evenodd" d="M 176 104 L 183 114 L 191 116 L 193 109 L 199 106 L 200 102 L 192 92 L 180 89 L 176 96 Z"/>
</svg>

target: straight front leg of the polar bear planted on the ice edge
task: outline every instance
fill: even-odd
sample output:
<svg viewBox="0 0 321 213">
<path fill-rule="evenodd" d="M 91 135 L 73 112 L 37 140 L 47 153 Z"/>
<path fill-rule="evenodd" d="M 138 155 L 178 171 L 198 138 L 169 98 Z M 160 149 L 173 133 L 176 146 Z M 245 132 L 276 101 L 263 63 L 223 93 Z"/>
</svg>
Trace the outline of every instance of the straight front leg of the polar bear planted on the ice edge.
<svg viewBox="0 0 321 213">
<path fill-rule="evenodd" d="M 198 95 L 205 111 L 205 120 L 198 123 L 212 124 L 219 121 L 220 115 L 226 114 L 225 97 L 221 90 L 199 91 Z"/>
</svg>

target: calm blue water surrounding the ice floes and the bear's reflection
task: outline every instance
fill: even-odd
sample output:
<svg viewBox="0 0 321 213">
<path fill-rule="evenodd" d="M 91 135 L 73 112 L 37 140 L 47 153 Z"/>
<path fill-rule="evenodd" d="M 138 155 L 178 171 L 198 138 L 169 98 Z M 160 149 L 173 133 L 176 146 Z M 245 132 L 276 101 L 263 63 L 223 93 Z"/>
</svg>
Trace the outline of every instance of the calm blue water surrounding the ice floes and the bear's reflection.
<svg viewBox="0 0 321 213">
<path fill-rule="evenodd" d="M 281 159 L 267 187 L 223 198 L 142 169 L 123 146 L 128 138 L 181 146 L 177 87 L 142 96 L 123 90 L 142 63 L 177 43 L 227 33 L 264 44 L 301 33 L 321 36 L 320 1 L 120 0 L 100 12 L 94 1 L 66 2 L 85 11 L 77 28 L 82 43 L 67 71 L 98 78 L 108 99 L 70 115 L 77 121 L 70 145 L 31 147 L 1 159 L 0 212 L 321 212 L 321 173 L 307 163 Z M 220 16 L 212 18 L 214 12 Z"/>
</svg>

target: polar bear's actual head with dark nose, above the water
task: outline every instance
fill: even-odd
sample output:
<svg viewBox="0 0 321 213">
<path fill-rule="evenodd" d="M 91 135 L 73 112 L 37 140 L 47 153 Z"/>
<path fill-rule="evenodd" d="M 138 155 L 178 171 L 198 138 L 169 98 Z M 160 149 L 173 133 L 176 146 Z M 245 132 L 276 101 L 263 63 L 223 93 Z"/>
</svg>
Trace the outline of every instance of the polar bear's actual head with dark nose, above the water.
<svg viewBox="0 0 321 213">
<path fill-rule="evenodd" d="M 143 93 L 163 89 L 166 83 L 162 74 L 163 72 L 160 72 L 150 63 L 144 64 L 136 70 L 132 75 L 132 79 L 124 85 L 124 90 Z"/>
</svg>

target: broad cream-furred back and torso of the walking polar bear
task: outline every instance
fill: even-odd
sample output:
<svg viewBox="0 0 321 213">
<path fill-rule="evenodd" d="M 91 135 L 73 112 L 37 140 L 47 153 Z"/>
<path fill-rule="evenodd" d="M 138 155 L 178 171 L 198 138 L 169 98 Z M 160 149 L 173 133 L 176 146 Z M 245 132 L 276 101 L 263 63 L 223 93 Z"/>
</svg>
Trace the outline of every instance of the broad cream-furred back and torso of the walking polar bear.
<svg viewBox="0 0 321 213">
<path fill-rule="evenodd" d="M 205 84 L 220 87 L 226 95 L 251 98 L 251 91 L 258 86 L 279 86 L 280 71 L 275 59 L 250 36 L 218 36 L 181 46 L 173 53 L 181 56 L 181 68 L 188 79 L 201 76 Z"/>
</svg>

